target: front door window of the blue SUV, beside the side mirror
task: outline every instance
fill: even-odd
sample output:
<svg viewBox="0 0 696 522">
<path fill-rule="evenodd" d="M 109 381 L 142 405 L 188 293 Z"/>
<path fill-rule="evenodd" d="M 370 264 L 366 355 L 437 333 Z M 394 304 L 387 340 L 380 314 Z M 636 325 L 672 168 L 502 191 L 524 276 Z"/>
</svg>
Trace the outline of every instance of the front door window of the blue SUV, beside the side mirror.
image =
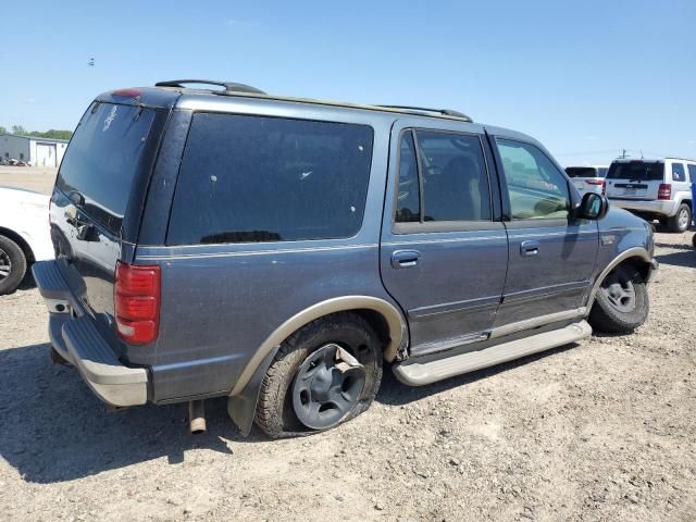
<svg viewBox="0 0 696 522">
<path fill-rule="evenodd" d="M 537 147 L 498 139 L 513 220 L 567 219 L 570 196 L 566 176 Z"/>
</svg>

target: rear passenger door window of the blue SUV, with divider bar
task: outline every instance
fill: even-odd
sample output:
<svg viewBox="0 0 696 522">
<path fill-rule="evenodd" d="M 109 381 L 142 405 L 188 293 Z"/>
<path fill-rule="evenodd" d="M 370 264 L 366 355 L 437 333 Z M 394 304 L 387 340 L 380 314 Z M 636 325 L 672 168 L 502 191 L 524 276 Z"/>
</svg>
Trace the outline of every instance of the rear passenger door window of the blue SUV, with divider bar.
<svg viewBox="0 0 696 522">
<path fill-rule="evenodd" d="M 405 132 L 398 184 L 397 223 L 492 219 L 486 162 L 476 136 Z"/>
</svg>

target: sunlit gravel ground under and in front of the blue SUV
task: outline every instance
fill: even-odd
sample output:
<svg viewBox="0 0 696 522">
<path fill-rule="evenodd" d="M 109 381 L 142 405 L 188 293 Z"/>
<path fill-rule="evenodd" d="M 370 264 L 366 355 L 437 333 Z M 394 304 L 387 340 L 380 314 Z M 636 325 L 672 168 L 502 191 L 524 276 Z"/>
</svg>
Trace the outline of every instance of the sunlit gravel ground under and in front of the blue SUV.
<svg viewBox="0 0 696 522">
<path fill-rule="evenodd" d="M 649 322 L 423 388 L 331 432 L 241 438 L 224 400 L 109 412 L 0 298 L 2 520 L 696 520 L 696 252 L 658 234 Z"/>
</svg>

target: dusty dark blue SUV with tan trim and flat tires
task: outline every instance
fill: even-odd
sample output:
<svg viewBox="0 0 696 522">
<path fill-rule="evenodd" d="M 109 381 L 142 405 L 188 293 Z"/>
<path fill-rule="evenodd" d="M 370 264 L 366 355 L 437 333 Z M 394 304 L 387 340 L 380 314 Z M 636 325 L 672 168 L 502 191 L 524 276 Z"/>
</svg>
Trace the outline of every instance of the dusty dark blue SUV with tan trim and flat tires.
<svg viewBox="0 0 696 522">
<path fill-rule="evenodd" d="M 420 386 L 629 333 L 657 268 L 651 227 L 524 134 L 215 82 L 99 96 L 50 221 L 55 361 L 194 430 L 228 397 L 271 437 L 363 412 L 385 364 Z"/>
</svg>

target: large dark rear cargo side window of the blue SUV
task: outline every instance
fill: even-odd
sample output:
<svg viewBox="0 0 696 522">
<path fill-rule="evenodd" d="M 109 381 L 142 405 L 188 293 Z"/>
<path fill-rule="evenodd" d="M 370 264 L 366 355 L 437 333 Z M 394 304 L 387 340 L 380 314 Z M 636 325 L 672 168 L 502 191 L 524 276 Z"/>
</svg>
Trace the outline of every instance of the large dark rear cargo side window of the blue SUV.
<svg viewBox="0 0 696 522">
<path fill-rule="evenodd" d="M 372 141 L 366 125 L 196 114 L 167 244 L 353 236 L 362 224 Z"/>
</svg>

